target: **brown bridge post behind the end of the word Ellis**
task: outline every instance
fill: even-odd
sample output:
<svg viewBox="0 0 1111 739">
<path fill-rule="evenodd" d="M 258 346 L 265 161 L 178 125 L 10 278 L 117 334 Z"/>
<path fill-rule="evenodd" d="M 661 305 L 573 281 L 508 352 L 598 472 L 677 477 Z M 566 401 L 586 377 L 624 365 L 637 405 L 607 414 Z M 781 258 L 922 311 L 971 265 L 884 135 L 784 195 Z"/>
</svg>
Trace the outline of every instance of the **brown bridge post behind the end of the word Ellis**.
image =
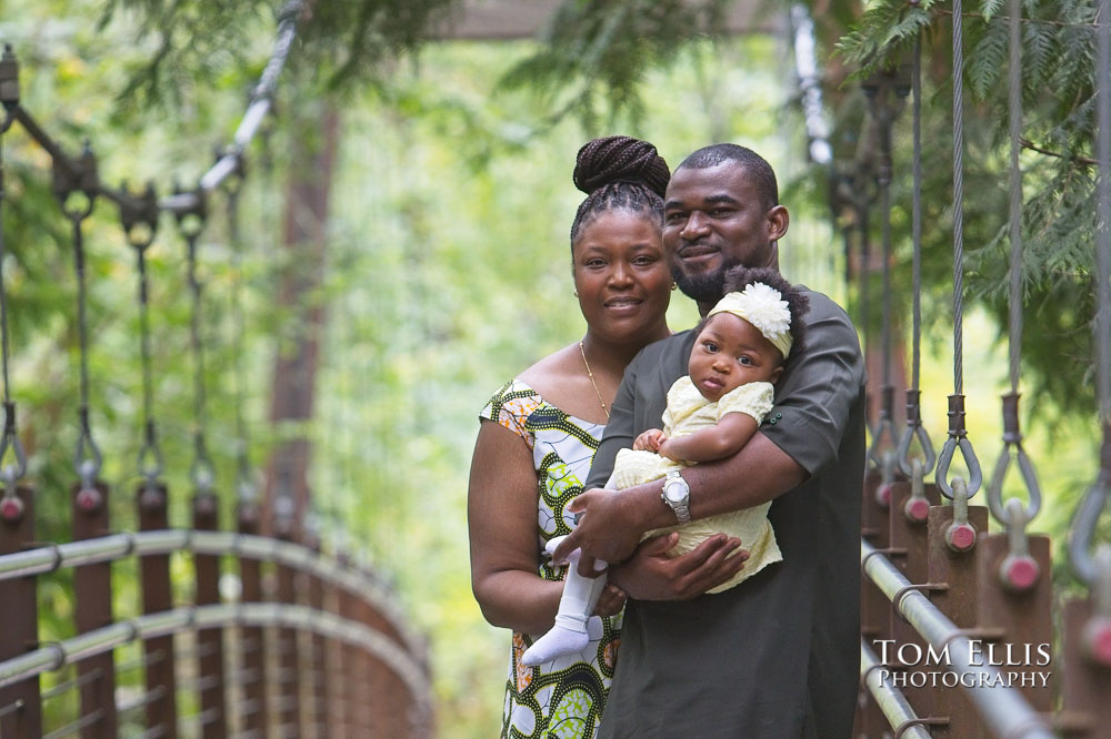
<svg viewBox="0 0 1111 739">
<path fill-rule="evenodd" d="M 1005 644 L 985 646 L 985 661 L 1001 672 L 1019 677 L 1011 681 L 1038 711 L 1053 710 L 1050 659 L 1053 646 L 1053 585 L 1050 580 L 1050 540 L 1048 536 L 1028 536 L 1029 554 L 1038 563 L 1040 575 L 1025 590 L 1010 590 L 1000 577 L 1000 567 L 1010 554 L 1007 534 L 987 536 L 977 545 L 980 554 L 980 618 L 985 632 L 1000 632 Z M 989 651 L 991 649 L 991 651 Z"/>
</svg>

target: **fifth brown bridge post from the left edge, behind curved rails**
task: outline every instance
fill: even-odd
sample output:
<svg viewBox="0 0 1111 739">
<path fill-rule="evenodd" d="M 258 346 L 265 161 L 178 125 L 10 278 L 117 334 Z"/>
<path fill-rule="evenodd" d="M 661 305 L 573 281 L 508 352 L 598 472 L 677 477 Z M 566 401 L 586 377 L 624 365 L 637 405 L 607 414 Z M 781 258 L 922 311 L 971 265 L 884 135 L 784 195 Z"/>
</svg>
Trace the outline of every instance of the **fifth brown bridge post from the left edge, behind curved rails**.
<svg viewBox="0 0 1111 739">
<path fill-rule="evenodd" d="M 239 533 L 257 536 L 259 533 L 259 508 L 253 503 L 243 503 L 237 513 Z M 250 557 L 240 557 L 239 576 L 243 583 L 243 603 L 262 603 L 262 563 Z M 243 703 L 237 709 L 242 717 L 242 731 L 258 739 L 267 739 L 270 725 L 267 706 L 267 650 L 266 629 L 261 626 L 242 627 L 242 687 Z"/>
</svg>

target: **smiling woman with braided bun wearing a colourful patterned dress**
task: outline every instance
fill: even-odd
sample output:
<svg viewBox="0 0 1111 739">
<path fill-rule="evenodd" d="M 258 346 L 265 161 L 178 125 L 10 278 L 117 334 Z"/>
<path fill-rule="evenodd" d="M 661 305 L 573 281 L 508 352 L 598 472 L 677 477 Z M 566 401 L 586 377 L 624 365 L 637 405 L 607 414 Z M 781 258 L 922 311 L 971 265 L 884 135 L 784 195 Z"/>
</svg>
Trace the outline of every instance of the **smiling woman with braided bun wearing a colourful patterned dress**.
<svg viewBox="0 0 1111 739">
<path fill-rule="evenodd" d="M 663 192 L 655 148 L 629 136 L 579 150 L 588 193 L 571 226 L 571 261 L 587 333 L 541 360 L 483 408 L 468 494 L 471 581 L 482 614 L 513 630 L 502 737 L 593 737 L 617 658 L 624 594 L 607 586 L 590 641 L 538 667 L 520 657 L 553 622 L 565 567 L 542 557 L 568 534 L 563 507 L 582 492 L 625 365 L 670 334 L 671 273 L 663 254 Z M 618 580 L 620 581 L 620 580 Z"/>
</svg>

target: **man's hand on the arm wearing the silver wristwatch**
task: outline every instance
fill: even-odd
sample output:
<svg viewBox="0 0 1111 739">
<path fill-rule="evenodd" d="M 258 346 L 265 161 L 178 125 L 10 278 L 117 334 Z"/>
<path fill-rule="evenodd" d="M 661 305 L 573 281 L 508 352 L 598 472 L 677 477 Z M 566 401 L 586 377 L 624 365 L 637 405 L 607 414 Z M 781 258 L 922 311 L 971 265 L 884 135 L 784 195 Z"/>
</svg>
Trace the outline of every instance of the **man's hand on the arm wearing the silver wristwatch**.
<svg viewBox="0 0 1111 739">
<path fill-rule="evenodd" d="M 622 490 L 594 488 L 567 504 L 564 510 L 580 514 L 579 525 L 556 547 L 552 560 L 562 564 L 574 549 L 582 549 L 579 574 L 598 577 L 594 559 L 614 563 L 632 554 L 644 529 L 638 527 L 627 498 Z"/>
</svg>

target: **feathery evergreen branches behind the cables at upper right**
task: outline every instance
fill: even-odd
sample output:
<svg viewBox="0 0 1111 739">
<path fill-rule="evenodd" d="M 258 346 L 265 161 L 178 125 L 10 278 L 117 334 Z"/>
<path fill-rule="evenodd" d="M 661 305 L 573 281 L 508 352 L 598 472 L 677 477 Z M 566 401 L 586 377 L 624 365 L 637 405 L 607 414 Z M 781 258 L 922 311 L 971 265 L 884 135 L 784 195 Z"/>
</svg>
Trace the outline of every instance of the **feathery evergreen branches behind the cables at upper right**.
<svg viewBox="0 0 1111 739">
<path fill-rule="evenodd" d="M 1090 382 L 1068 379 L 1063 363 L 1079 363 L 1090 377 L 1094 284 L 1091 279 L 1094 172 L 1094 3 L 1022 3 L 1022 288 L 1025 330 L 1022 362 L 1025 387 L 1038 407 L 1085 414 L 1093 407 Z M 963 19 L 965 48 L 964 244 L 967 300 L 999 320 L 1005 336 L 1009 259 L 1008 136 L 1009 13 L 1003 2 L 984 2 Z M 952 160 L 951 104 L 945 79 L 951 58 L 951 16 L 940 3 L 921 10 L 901 2 L 872 4 L 840 44 L 841 53 L 862 70 L 905 62 L 903 30 L 917 19 L 923 30 L 925 90 L 937 104 L 923 107 L 923 161 Z M 910 156 L 909 121 L 897 129 L 897 161 Z M 932 168 L 928 168 L 932 169 Z M 939 168 L 940 169 L 940 168 Z M 952 199 L 948 172 L 927 173 L 927 200 Z M 905 202 L 905 201 L 904 201 Z M 928 223 L 930 221 L 927 221 Z M 905 231 L 897 231 L 905 245 Z M 945 261 L 947 230 L 928 230 L 927 262 Z M 951 257 L 949 257 L 951 261 Z M 938 274 L 938 280 L 948 277 Z M 943 283 L 942 283 L 943 284 Z M 1049 402 L 1052 398 L 1052 402 Z M 1059 416 L 1059 418 L 1064 416 Z"/>
</svg>

